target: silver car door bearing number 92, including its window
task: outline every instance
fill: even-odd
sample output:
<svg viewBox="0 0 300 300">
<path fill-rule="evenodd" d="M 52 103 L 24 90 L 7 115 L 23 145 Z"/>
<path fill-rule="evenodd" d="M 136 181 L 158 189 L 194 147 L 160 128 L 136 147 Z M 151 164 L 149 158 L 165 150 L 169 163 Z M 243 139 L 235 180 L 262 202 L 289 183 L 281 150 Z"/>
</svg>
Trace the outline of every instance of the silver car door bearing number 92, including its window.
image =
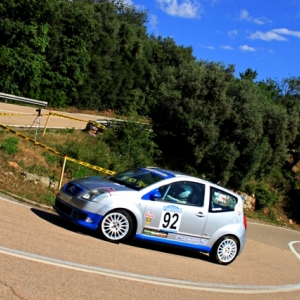
<svg viewBox="0 0 300 300">
<path fill-rule="evenodd" d="M 189 187 L 192 191 L 186 199 L 176 201 L 175 190 L 181 186 Z M 161 186 L 157 198 L 147 201 L 143 234 L 182 242 L 201 238 L 208 212 L 208 203 L 204 201 L 205 188 L 204 184 L 189 181 Z"/>
</svg>

